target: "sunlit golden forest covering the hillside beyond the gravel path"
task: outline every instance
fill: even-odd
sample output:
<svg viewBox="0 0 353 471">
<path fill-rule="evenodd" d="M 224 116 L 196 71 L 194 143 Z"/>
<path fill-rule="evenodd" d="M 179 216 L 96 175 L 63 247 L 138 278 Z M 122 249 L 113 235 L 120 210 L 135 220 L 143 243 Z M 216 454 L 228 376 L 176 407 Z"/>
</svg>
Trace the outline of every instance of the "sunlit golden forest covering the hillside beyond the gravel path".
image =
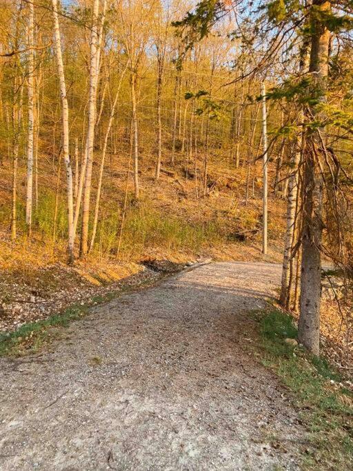
<svg viewBox="0 0 353 471">
<path fill-rule="evenodd" d="M 5 314 L 36 263 L 248 250 L 282 263 L 314 354 L 331 289 L 350 363 L 350 1 L 2 0 L 1 20 Z"/>
</svg>

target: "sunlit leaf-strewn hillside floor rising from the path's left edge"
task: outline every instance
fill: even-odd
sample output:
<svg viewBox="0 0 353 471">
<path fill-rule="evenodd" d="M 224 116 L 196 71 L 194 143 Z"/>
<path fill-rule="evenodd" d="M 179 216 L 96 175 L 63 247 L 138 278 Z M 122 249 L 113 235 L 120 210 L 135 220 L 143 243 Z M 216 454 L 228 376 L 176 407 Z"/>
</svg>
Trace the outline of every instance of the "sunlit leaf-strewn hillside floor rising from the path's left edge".
<svg viewBox="0 0 353 471">
<path fill-rule="evenodd" d="M 26 168 L 19 168 L 17 241 L 10 240 L 11 168 L 0 173 L 0 329 L 44 319 L 72 303 L 113 290 L 145 268 L 146 261 L 185 265 L 198 259 L 261 260 L 261 184 L 254 179 L 245 204 L 245 168 L 210 166 L 206 198 L 185 166 L 161 172 L 151 166 L 140 175 L 141 199 L 128 204 L 117 256 L 124 188 L 125 156 L 106 169 L 96 244 L 85 261 L 68 266 L 65 253 L 65 187 L 56 188 L 55 169 L 43 159 L 32 237 L 24 221 Z M 146 165 L 146 162 L 145 162 Z M 230 177 L 232 175 L 232 177 Z M 131 178 L 130 178 L 131 180 Z M 252 181 L 250 182 L 252 183 Z M 95 182 L 97 184 L 97 182 Z M 95 194 L 92 197 L 94 203 Z M 266 259 L 281 261 L 284 203 L 270 198 L 270 247 Z M 77 245 L 79 242 L 77 241 Z M 143 275 L 145 276 L 145 275 Z"/>
</svg>

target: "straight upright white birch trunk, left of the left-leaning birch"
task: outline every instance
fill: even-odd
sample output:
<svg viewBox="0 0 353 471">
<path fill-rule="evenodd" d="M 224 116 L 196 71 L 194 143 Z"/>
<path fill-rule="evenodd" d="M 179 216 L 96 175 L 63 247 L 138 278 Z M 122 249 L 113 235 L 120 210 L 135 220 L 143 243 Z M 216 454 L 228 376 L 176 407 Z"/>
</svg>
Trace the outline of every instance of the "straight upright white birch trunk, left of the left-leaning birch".
<svg viewBox="0 0 353 471">
<path fill-rule="evenodd" d="M 33 198 L 33 134 L 34 134 L 34 4 L 28 3 L 28 142 L 27 142 L 27 195 L 26 226 L 32 231 Z"/>
</svg>

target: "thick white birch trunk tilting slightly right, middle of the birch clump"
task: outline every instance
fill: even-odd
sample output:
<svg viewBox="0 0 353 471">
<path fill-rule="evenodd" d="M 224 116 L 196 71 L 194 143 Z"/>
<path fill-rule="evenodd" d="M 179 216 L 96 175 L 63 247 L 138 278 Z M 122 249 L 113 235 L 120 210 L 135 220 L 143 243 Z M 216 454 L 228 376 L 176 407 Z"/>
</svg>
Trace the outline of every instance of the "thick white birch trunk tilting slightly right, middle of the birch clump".
<svg viewBox="0 0 353 471">
<path fill-rule="evenodd" d="M 97 77 L 99 70 L 99 25 L 98 25 L 99 0 L 94 0 L 92 14 L 92 30 L 90 39 L 90 97 L 88 100 L 88 130 L 85 143 L 86 166 L 85 185 L 83 190 L 82 228 L 80 243 L 80 258 L 88 252 L 88 223 L 90 219 L 90 194 L 92 185 L 94 125 L 96 123 Z M 83 170 L 82 170 L 83 171 Z M 77 208 L 79 208 L 79 199 Z"/>
</svg>

